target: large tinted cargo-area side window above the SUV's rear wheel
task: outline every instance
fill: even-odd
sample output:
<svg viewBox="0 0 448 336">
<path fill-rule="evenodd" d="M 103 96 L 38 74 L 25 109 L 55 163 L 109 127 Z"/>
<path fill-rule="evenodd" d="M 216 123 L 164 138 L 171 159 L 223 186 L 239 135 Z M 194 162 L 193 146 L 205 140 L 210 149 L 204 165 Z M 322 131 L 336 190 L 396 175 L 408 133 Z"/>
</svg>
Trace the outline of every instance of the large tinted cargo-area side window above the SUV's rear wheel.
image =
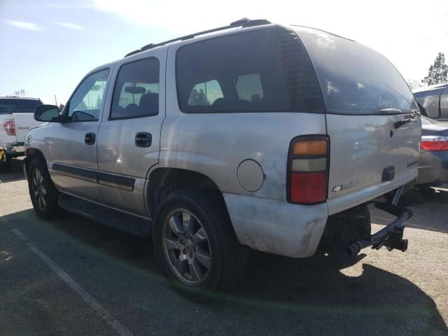
<svg viewBox="0 0 448 336">
<path fill-rule="evenodd" d="M 273 34 L 254 31 L 185 45 L 176 55 L 185 113 L 290 111 Z"/>
</svg>

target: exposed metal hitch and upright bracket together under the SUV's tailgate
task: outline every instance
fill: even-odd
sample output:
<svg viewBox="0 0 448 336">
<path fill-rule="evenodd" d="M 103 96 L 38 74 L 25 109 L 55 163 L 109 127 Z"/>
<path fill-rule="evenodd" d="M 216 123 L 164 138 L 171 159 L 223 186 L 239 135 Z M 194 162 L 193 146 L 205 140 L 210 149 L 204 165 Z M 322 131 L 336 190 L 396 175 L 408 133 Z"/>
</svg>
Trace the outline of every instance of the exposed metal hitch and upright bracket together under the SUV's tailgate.
<svg viewBox="0 0 448 336">
<path fill-rule="evenodd" d="M 351 241 L 346 247 L 349 255 L 358 255 L 361 249 L 368 246 L 372 246 L 372 248 L 377 250 L 382 246 L 386 246 L 388 251 L 392 251 L 394 248 L 402 252 L 407 250 L 407 239 L 403 239 L 403 232 L 405 230 L 405 221 L 412 217 L 412 211 L 398 206 L 402 190 L 403 187 L 395 190 L 393 197 L 387 202 L 374 202 L 375 207 L 396 216 L 397 219 L 374 235 L 371 235 L 370 239 Z"/>
</svg>

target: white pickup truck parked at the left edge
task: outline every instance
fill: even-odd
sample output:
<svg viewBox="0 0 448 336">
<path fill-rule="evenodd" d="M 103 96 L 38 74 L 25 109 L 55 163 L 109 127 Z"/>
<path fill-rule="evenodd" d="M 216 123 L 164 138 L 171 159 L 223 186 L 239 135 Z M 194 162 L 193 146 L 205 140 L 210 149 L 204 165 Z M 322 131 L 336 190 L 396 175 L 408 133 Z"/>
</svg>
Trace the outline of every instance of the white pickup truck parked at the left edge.
<svg viewBox="0 0 448 336">
<path fill-rule="evenodd" d="M 12 158 L 25 155 L 25 136 L 42 124 L 34 120 L 34 109 L 41 104 L 38 98 L 0 96 L 0 173 L 8 172 Z"/>
</svg>

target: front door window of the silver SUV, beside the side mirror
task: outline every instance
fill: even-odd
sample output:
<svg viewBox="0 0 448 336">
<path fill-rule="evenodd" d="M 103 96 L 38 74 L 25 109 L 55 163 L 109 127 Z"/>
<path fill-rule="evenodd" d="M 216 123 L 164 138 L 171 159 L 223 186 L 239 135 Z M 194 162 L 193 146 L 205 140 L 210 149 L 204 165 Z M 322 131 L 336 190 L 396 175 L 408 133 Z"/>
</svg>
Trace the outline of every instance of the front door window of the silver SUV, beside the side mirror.
<svg viewBox="0 0 448 336">
<path fill-rule="evenodd" d="M 101 111 L 109 69 L 87 76 L 73 93 L 67 117 L 71 120 L 98 120 Z"/>
</svg>

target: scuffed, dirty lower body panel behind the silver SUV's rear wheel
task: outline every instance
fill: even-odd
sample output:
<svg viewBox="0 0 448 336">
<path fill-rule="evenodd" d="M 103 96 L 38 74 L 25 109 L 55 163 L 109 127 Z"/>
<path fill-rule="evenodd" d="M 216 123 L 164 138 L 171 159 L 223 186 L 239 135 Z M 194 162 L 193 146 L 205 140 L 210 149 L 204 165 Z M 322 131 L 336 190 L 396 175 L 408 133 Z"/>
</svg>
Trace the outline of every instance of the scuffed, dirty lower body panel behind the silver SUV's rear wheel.
<svg viewBox="0 0 448 336">
<path fill-rule="evenodd" d="M 293 258 L 316 252 L 328 218 L 327 204 L 298 205 L 226 193 L 224 200 L 241 244 Z"/>
</svg>

